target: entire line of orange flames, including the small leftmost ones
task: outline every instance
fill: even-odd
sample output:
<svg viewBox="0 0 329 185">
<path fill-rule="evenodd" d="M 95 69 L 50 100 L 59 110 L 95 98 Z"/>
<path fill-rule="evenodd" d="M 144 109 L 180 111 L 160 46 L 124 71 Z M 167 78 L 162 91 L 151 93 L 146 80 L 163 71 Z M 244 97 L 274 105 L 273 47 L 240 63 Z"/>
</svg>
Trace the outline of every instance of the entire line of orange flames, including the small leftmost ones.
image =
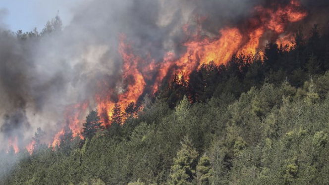
<svg viewBox="0 0 329 185">
<path fill-rule="evenodd" d="M 150 55 L 142 58 L 134 53 L 133 43 L 123 34 L 120 36 L 118 52 L 122 58 L 121 78 L 115 85 L 106 80 L 99 81 L 98 91 L 91 99 L 96 102 L 96 109 L 101 116 L 103 125 L 110 126 L 112 110 L 117 103 L 121 111 L 130 103 L 136 103 L 146 94 L 155 94 L 165 77 L 172 78 L 175 74 L 189 80 L 190 74 L 203 64 L 214 61 L 216 65 L 226 64 L 234 55 L 263 55 L 263 49 L 269 42 L 278 45 L 293 47 L 291 33 L 286 30 L 288 24 L 300 21 L 307 16 L 298 0 L 281 5 L 268 7 L 256 6 L 252 16 L 241 21 L 236 26 L 225 26 L 219 30 L 216 37 L 190 33 L 189 26 L 184 25 L 189 38 L 181 47 L 183 53 L 166 52 L 162 61 L 157 62 Z M 147 53 L 146 53 L 147 55 Z M 141 65 L 143 64 L 143 66 Z M 145 65 L 146 64 L 146 65 Z M 86 116 L 89 101 L 79 102 L 66 107 L 64 118 L 66 123 L 59 128 L 53 140 L 49 143 L 55 147 L 68 127 L 73 137 L 81 135 L 82 123 Z M 26 148 L 31 153 L 35 142 Z M 18 152 L 17 138 L 9 139 L 9 146 Z"/>
</svg>

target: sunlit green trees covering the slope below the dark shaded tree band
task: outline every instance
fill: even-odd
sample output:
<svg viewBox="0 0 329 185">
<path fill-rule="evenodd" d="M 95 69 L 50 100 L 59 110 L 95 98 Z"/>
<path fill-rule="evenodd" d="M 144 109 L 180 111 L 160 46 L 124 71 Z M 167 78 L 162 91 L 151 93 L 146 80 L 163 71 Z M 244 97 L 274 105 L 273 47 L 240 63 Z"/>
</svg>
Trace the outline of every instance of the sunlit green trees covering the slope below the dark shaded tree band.
<svg viewBox="0 0 329 185">
<path fill-rule="evenodd" d="M 3 170 L 7 175 L 1 181 L 9 185 L 18 181 L 91 184 L 90 179 L 109 185 L 326 184 L 329 98 L 306 100 L 308 92 L 320 92 L 317 84 L 324 78 L 315 78 L 311 88 L 311 81 L 303 88 L 286 81 L 278 86 L 264 84 L 235 100 L 222 94 L 191 104 L 183 97 L 174 110 L 157 100 L 117 127 L 121 134 L 116 137 L 99 130 L 81 142 L 65 131 L 58 148 L 35 150 L 10 173 Z M 190 139 L 180 143 L 184 135 Z M 198 159 L 205 152 L 209 158 Z"/>
</svg>

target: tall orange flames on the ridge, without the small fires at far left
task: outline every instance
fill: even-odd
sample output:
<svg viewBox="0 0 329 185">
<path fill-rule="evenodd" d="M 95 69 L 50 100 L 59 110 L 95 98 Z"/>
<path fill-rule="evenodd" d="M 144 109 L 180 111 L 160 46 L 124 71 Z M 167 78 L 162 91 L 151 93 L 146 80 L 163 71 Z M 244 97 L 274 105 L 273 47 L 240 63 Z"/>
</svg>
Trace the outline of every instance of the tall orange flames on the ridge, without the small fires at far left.
<svg viewBox="0 0 329 185">
<path fill-rule="evenodd" d="M 275 4 L 273 4 L 274 7 L 276 7 Z M 208 64 L 210 61 L 220 65 L 226 64 L 234 54 L 256 55 L 258 52 L 262 53 L 265 46 L 260 42 L 265 32 L 268 31 L 273 32 L 278 44 L 292 46 L 289 37 L 278 36 L 284 33 L 288 23 L 300 21 L 307 15 L 305 11 L 300 9 L 300 3 L 296 0 L 292 0 L 286 6 L 277 7 L 276 9 L 257 6 L 254 11 L 256 15 L 245 23 L 247 28 L 223 28 L 219 30 L 218 39 L 208 37 L 200 39 L 198 34 L 192 34 L 192 40 L 183 44 L 186 47 L 186 52 L 179 59 L 175 60 L 174 53 L 168 52 L 163 61 L 156 67 L 151 67 L 154 63 L 150 62 L 150 66 L 144 68 L 149 69 L 156 76 L 155 83 L 151 85 L 151 92 L 157 92 L 167 75 L 180 74 L 188 80 L 189 74 L 193 70 L 202 64 Z M 185 25 L 183 29 L 188 29 L 188 25 Z M 188 33 L 188 31 L 186 32 Z M 130 102 L 138 100 L 147 85 L 145 73 L 138 68 L 138 64 L 143 63 L 145 59 L 136 56 L 133 53 L 133 48 L 126 42 L 126 38 L 121 36 L 118 50 L 123 60 L 124 90 L 117 94 L 116 101 L 110 98 L 113 95 L 113 89 L 110 89 L 105 95 L 104 93 L 96 95 L 98 111 L 102 113 L 104 123 L 109 122 L 115 102 L 123 110 Z M 152 59 L 148 60 L 152 61 Z"/>
</svg>

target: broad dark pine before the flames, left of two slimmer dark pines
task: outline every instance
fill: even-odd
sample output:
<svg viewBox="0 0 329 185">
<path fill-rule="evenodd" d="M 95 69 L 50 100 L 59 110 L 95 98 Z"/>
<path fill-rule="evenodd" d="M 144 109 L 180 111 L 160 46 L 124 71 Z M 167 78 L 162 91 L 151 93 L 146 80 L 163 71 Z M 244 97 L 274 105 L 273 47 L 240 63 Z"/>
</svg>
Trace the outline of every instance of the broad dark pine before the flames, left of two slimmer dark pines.
<svg viewBox="0 0 329 185">
<path fill-rule="evenodd" d="M 82 136 L 91 139 L 97 131 L 102 130 L 102 122 L 97 111 L 91 111 L 86 117 L 86 122 L 83 124 Z"/>
</svg>

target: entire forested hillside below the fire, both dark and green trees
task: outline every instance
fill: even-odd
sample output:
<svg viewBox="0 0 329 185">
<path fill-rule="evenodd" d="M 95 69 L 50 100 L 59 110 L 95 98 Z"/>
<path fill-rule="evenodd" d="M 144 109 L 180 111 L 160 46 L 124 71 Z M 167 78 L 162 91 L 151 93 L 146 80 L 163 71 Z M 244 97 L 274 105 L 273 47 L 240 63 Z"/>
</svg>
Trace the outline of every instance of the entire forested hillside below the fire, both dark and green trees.
<svg viewBox="0 0 329 185">
<path fill-rule="evenodd" d="M 0 168 L 0 184 L 329 184 L 329 32 L 300 29 L 293 42 L 268 44 L 264 59 L 234 56 L 189 80 L 177 75 L 139 108 L 115 106 L 109 128 L 91 111 L 84 139 L 66 129 L 48 147 L 38 129 L 32 155 L 10 150 L 0 159 L 12 166 Z"/>
</svg>

